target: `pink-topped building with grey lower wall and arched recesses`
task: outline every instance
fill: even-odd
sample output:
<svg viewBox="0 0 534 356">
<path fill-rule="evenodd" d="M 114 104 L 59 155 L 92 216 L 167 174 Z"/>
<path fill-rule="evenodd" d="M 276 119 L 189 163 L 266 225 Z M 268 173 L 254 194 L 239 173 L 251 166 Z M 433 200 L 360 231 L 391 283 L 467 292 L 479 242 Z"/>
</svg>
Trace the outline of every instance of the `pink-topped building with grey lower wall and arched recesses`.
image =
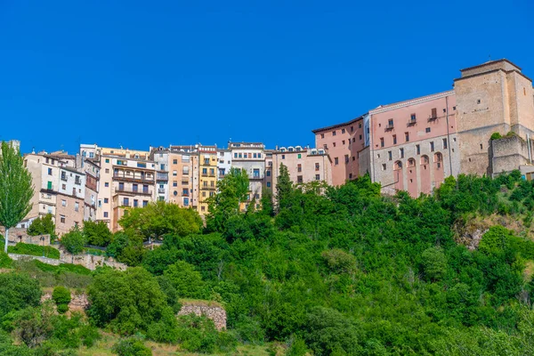
<svg viewBox="0 0 534 356">
<path fill-rule="evenodd" d="M 456 115 L 454 91 L 369 111 L 369 160 L 360 174 L 369 172 L 385 191 L 431 193 L 458 174 Z"/>
</svg>

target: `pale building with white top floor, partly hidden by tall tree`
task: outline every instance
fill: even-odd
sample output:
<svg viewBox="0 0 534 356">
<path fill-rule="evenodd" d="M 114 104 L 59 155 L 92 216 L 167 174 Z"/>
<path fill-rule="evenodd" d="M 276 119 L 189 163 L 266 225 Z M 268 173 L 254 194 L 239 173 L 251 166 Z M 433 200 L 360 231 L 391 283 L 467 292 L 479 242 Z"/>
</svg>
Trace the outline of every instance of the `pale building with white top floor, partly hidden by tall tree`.
<svg viewBox="0 0 534 356">
<path fill-rule="evenodd" d="M 231 150 L 231 166 L 244 169 L 248 174 L 248 197 L 240 208 L 247 209 L 253 200 L 255 208 L 259 208 L 265 177 L 265 146 L 260 142 L 229 142 L 228 149 Z"/>
</svg>

